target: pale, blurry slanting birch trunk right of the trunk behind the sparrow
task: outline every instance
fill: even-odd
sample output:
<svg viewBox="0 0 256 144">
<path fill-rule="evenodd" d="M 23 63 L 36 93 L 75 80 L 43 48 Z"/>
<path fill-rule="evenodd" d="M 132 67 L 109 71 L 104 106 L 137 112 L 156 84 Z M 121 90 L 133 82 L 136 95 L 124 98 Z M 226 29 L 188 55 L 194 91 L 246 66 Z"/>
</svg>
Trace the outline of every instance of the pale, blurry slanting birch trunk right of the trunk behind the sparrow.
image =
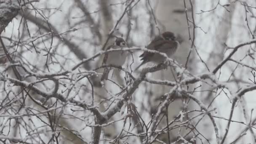
<svg viewBox="0 0 256 144">
<path fill-rule="evenodd" d="M 231 2 L 231 1 L 230 1 Z M 196 3 L 196 9 L 197 12 L 200 10 L 205 10 L 206 8 L 212 9 L 217 5 L 217 1 L 211 1 L 211 8 L 208 6 L 205 7 L 205 5 L 208 4 L 209 1 L 197 1 Z M 206 34 L 203 34 L 202 30 L 197 29 L 197 39 L 196 39 L 196 45 L 198 45 L 198 48 L 201 52 L 200 55 L 203 56 L 205 55 L 205 51 L 209 51 L 206 55 L 208 56 L 208 59 L 206 59 L 205 63 L 207 64 L 208 68 L 210 71 L 212 71 L 220 61 L 223 60 L 224 58 L 224 52 L 226 50 L 226 45 L 225 43 L 227 42 L 227 39 L 229 37 L 229 32 L 231 29 L 231 21 L 234 13 L 235 5 L 230 5 L 227 7 L 227 10 L 224 8 L 217 7 L 216 10 L 211 11 L 209 13 L 205 13 L 203 15 L 197 15 L 196 21 L 211 21 L 210 25 L 205 25 L 207 27 L 202 27 L 202 29 L 207 29 L 207 36 Z M 216 18 L 214 14 L 219 14 L 221 18 Z M 205 19 L 205 16 L 207 18 Z M 217 27 L 216 27 L 217 26 Z M 211 29 L 209 29 L 211 27 Z M 205 38 L 204 41 L 202 41 L 202 37 L 207 37 Z M 206 48 L 205 48 L 206 47 Z M 206 56 L 206 57 L 207 57 Z M 201 69 L 198 69 L 198 73 L 202 72 L 208 72 L 208 70 L 205 67 L 205 64 L 200 62 L 200 59 L 197 57 L 197 65 L 198 67 L 201 67 Z M 219 75 L 219 72 L 217 72 L 217 77 Z M 211 87 L 209 85 L 203 84 L 201 90 L 211 90 Z M 216 96 L 214 93 L 211 91 L 207 92 L 201 92 L 198 94 L 199 98 L 203 101 L 204 104 L 209 105 L 211 101 L 214 99 Z M 216 101 L 215 101 L 216 102 Z M 214 103 L 215 103 L 214 102 Z M 209 109 L 213 109 L 216 105 L 212 104 Z M 198 119 L 200 119 L 199 117 Z M 203 136 L 205 136 L 206 139 L 214 142 L 215 136 L 214 136 L 214 131 L 213 131 L 213 125 L 210 123 L 210 119 L 208 117 L 204 117 L 203 120 L 197 125 L 198 131 L 201 133 L 204 133 Z M 220 133 L 222 135 L 223 133 Z M 197 142 L 200 143 L 201 141 L 197 139 Z M 203 143 L 207 143 L 207 141 L 203 138 Z"/>
</svg>

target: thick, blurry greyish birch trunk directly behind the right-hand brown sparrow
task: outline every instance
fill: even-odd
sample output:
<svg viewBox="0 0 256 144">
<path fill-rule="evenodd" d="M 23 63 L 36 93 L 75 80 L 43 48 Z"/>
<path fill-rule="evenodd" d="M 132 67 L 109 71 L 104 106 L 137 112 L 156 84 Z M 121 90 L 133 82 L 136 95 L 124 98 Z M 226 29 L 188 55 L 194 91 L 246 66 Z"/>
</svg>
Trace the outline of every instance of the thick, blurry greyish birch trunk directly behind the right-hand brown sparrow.
<svg viewBox="0 0 256 144">
<path fill-rule="evenodd" d="M 189 19 L 192 19 L 192 12 L 189 2 L 187 2 L 186 7 L 188 9 L 187 14 L 189 16 Z M 157 26 L 160 28 L 160 33 L 164 31 L 171 31 L 174 32 L 176 35 L 179 35 L 179 37 L 181 37 L 183 42 L 181 43 L 179 49 L 176 51 L 175 55 L 173 56 L 173 59 L 175 59 L 179 62 L 179 64 L 182 64 L 184 66 L 187 61 L 187 56 L 189 53 L 191 43 L 189 41 L 187 17 L 185 14 L 183 0 L 158 0 L 155 2 L 154 10 L 155 17 L 157 19 Z M 191 24 L 190 27 L 192 27 Z M 155 31 L 157 31 L 156 28 Z M 191 28 L 190 31 L 192 31 Z M 192 55 L 189 58 L 189 70 L 194 68 L 193 57 L 194 55 L 192 52 Z M 170 69 L 168 69 L 167 71 L 156 72 L 152 74 L 152 77 L 154 77 L 155 79 L 175 81 L 175 77 L 173 77 L 173 74 Z M 159 96 L 162 96 L 165 92 L 168 92 L 170 89 L 169 87 L 162 85 L 152 85 L 152 88 L 154 91 L 151 97 L 152 101 L 155 101 L 155 99 L 159 99 Z M 176 99 L 168 106 L 169 121 L 173 120 L 173 118 L 176 117 L 182 109 L 184 109 L 183 102 L 184 101 L 182 101 L 181 99 Z M 152 102 L 152 104 L 157 105 L 158 102 Z M 162 125 L 166 125 L 166 123 L 162 123 Z M 175 141 L 177 139 L 177 136 L 179 136 L 179 131 L 180 129 L 172 130 L 170 132 L 171 141 Z M 186 131 L 182 129 L 180 134 L 182 135 L 185 132 Z M 168 135 L 163 135 L 162 139 L 168 143 Z"/>
</svg>

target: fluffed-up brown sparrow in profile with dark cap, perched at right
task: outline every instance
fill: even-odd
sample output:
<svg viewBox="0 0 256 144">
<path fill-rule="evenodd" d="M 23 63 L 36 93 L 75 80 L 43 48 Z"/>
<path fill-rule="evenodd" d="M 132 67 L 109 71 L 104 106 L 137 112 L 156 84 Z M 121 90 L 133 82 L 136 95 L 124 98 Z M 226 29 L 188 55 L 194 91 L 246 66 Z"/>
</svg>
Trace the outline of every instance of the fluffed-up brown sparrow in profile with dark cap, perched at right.
<svg viewBox="0 0 256 144">
<path fill-rule="evenodd" d="M 165 53 L 167 56 L 172 56 L 176 50 L 179 48 L 179 42 L 176 40 L 173 32 L 164 32 L 162 35 L 156 36 L 149 45 L 146 46 L 149 50 L 155 50 L 162 53 Z M 160 55 L 159 53 L 150 53 L 144 51 L 139 56 L 142 60 L 141 64 L 136 67 L 135 70 L 139 69 L 143 64 L 151 61 L 154 63 L 160 63 L 165 61 L 165 57 Z"/>
</svg>

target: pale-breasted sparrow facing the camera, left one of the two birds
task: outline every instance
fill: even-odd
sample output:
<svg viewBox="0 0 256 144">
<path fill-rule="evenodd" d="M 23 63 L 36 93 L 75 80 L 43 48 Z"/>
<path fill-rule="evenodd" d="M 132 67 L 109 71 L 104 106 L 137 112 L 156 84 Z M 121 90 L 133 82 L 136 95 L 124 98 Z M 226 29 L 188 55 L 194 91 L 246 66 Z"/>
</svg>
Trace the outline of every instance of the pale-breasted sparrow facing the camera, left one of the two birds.
<svg viewBox="0 0 256 144">
<path fill-rule="evenodd" d="M 126 48 L 127 47 L 127 43 L 125 42 L 125 40 L 121 37 L 117 37 L 115 40 L 115 43 L 113 45 L 110 45 L 107 50 L 109 50 L 110 48 L 113 49 L 118 49 L 118 48 Z M 121 67 L 126 60 L 126 57 L 128 55 L 128 51 L 113 51 L 113 52 L 109 52 L 106 53 L 103 59 L 103 64 L 112 64 L 118 67 Z M 109 75 L 109 68 L 105 68 L 104 72 L 101 76 L 101 81 L 103 80 L 107 80 L 108 75 Z"/>
</svg>

